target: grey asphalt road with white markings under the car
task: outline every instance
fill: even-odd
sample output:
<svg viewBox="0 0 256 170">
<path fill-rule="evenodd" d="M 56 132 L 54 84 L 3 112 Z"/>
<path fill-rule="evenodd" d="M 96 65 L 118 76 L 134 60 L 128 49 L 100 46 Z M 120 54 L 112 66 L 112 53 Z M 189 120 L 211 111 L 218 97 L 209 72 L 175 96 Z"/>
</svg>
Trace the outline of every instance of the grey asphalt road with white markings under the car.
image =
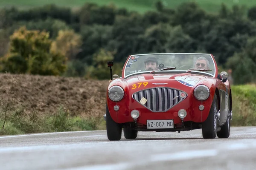
<svg viewBox="0 0 256 170">
<path fill-rule="evenodd" d="M 256 127 L 228 139 L 201 130 L 139 132 L 108 141 L 106 131 L 0 137 L 0 170 L 256 170 Z"/>
</svg>

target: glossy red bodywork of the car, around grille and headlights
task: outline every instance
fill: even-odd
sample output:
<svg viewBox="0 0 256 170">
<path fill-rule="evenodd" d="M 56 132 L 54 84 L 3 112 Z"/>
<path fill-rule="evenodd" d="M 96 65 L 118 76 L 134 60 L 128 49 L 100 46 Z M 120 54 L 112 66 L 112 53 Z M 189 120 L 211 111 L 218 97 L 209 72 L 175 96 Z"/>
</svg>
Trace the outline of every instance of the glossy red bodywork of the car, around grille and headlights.
<svg viewBox="0 0 256 170">
<path fill-rule="evenodd" d="M 129 61 L 128 57 L 127 61 Z M 212 56 L 214 59 L 214 57 Z M 125 62 L 125 65 L 126 65 Z M 215 60 L 214 60 L 215 62 Z M 215 68 L 217 64 L 215 62 Z M 125 69 L 125 66 L 123 70 Z M 195 73 L 180 73 L 175 74 L 171 71 L 169 73 L 153 73 L 153 74 L 137 74 L 126 79 L 118 78 L 114 79 L 108 86 L 107 89 L 107 105 L 111 115 L 111 118 L 116 123 L 127 123 L 127 122 L 134 122 L 134 119 L 131 117 L 131 111 L 136 109 L 140 112 L 140 116 L 137 118 L 138 125 L 145 125 L 147 124 L 147 120 L 167 120 L 173 119 L 174 125 L 180 124 L 181 119 L 178 116 L 178 111 L 180 109 L 185 109 L 187 112 L 187 116 L 183 119 L 184 122 L 192 121 L 192 122 L 204 122 L 209 114 L 212 100 L 217 91 L 226 91 L 228 95 L 230 95 L 230 84 L 227 82 L 223 83 L 220 79 L 217 78 L 218 71 L 216 69 L 215 77 L 208 76 L 207 74 L 195 74 Z M 122 77 L 125 77 L 124 71 L 122 72 Z M 176 79 L 175 79 L 176 77 Z M 193 86 L 186 85 L 177 81 L 177 77 L 189 77 L 195 80 L 195 84 Z M 143 84 L 144 83 L 144 84 Z M 156 83 L 156 84 L 152 84 Z M 157 83 L 168 83 L 165 85 L 158 85 Z M 124 90 L 124 97 L 119 102 L 113 102 L 108 97 L 108 90 L 113 85 L 118 85 L 123 88 Z M 194 96 L 194 89 L 197 85 L 206 85 L 209 88 L 210 96 L 208 99 L 204 101 L 200 101 L 195 98 Z M 152 112 L 148 108 L 145 108 L 142 104 L 137 102 L 135 99 L 132 98 L 132 94 L 137 91 L 141 91 L 143 89 L 148 88 L 155 88 L 155 87 L 169 87 L 175 88 L 181 91 L 186 92 L 187 97 L 183 99 L 183 101 L 179 102 L 178 104 L 174 105 L 166 112 Z M 115 105 L 119 106 L 119 110 L 115 111 L 113 108 Z M 204 110 L 199 110 L 199 105 L 204 105 Z M 221 105 L 221 95 L 218 96 L 218 105 Z M 224 116 L 223 116 L 224 117 Z"/>
</svg>

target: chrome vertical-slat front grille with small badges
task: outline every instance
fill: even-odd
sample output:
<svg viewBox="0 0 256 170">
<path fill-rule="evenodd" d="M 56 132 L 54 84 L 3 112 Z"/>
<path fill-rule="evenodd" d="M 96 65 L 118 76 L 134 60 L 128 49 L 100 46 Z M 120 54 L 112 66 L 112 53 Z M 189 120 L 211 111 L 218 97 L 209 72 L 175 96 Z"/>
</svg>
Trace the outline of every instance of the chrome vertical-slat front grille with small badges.
<svg viewBox="0 0 256 170">
<path fill-rule="evenodd" d="M 143 97 L 147 100 L 145 104 Z M 152 112 L 166 112 L 186 97 L 186 92 L 168 87 L 148 88 L 132 95 L 133 99 Z"/>
</svg>

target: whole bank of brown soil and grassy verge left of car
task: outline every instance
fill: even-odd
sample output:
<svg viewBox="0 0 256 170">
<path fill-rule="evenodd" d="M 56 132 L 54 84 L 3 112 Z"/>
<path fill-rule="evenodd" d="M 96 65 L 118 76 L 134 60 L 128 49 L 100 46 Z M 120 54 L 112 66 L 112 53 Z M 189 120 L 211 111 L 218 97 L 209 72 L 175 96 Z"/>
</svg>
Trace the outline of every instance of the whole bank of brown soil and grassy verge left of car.
<svg viewBox="0 0 256 170">
<path fill-rule="evenodd" d="M 105 129 L 108 80 L 0 74 L 0 134 Z"/>
</svg>

